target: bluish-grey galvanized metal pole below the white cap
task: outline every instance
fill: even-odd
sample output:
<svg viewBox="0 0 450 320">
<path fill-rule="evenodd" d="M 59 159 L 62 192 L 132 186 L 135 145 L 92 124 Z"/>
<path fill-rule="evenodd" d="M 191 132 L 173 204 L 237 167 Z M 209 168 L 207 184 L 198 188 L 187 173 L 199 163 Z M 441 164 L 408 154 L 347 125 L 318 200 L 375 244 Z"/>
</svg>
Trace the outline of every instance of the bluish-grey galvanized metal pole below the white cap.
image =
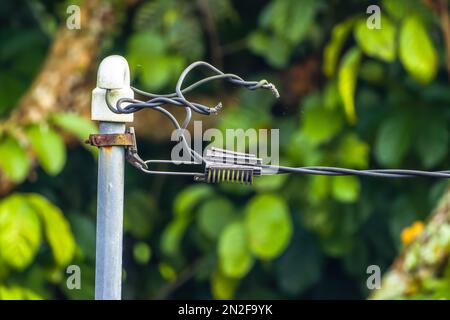
<svg viewBox="0 0 450 320">
<path fill-rule="evenodd" d="M 100 134 L 124 132 L 124 123 L 100 122 Z M 121 299 L 124 165 L 124 147 L 100 148 L 95 265 L 96 300 Z"/>
</svg>

